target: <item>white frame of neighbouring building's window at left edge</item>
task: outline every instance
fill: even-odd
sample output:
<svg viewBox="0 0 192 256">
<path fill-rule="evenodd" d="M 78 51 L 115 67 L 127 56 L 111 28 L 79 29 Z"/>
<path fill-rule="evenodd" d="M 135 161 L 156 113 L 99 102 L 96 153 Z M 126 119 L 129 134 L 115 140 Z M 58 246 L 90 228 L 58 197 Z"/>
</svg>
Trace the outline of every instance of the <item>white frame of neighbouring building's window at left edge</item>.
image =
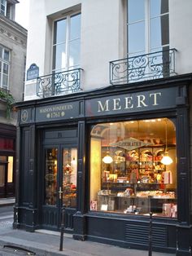
<svg viewBox="0 0 192 256">
<path fill-rule="evenodd" d="M 2 48 L 2 55 L 0 55 L 0 65 L 1 65 L 1 69 L 0 69 L 0 88 L 4 89 L 4 90 L 9 90 L 9 75 L 10 75 L 10 53 L 11 51 L 9 49 L 7 49 L 4 46 L 1 46 Z M 9 60 L 5 60 L 4 59 L 4 55 L 5 55 L 5 51 L 9 52 Z M 7 64 L 8 66 L 8 73 L 7 75 L 7 85 L 3 85 L 3 65 Z"/>
</svg>

